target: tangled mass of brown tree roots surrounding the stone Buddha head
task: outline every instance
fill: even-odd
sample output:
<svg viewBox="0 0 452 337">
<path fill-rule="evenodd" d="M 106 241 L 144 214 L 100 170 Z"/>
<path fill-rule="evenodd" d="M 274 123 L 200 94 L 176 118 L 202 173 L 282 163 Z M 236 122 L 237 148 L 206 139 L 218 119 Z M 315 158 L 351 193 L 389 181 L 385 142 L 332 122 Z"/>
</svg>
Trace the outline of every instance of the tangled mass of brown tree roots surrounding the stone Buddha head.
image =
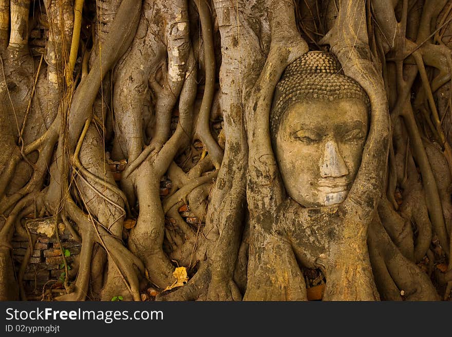
<svg viewBox="0 0 452 337">
<path fill-rule="evenodd" d="M 362 222 L 354 229 L 365 233 L 370 226 L 367 244 L 382 298 L 436 299 L 415 263 L 427 256 L 432 269 L 437 255 L 452 258 L 452 151 L 444 122 L 452 96 L 444 106 L 436 100 L 450 81 L 444 37 L 452 4 L 425 2 L 418 10 L 406 0 L 341 6 L 333 0 L 44 0 L 41 9 L 37 3 L 0 0 L 1 299 L 17 298 L 23 288 L 16 285 L 27 258 L 16 280 L 10 239 L 15 233 L 33 241 L 21 224 L 30 215 L 53 216 L 82 241 L 77 280 L 69 285 L 66 277 L 59 300 L 83 300 L 90 290 L 102 299 L 119 291 L 140 300 L 144 286 L 171 285 L 178 264 L 194 275 L 162 299 L 238 300 L 245 292 L 261 298 L 262 285 L 272 282 L 269 270 L 278 285 L 289 285 L 291 298 L 304 299 L 294 247 L 281 228 L 262 229 L 285 200 L 267 115 L 278 74 L 307 50 L 298 28 L 310 47 L 329 45 L 372 101 L 366 179 L 354 184 L 344 210 L 358 212 Z M 35 25 L 45 44 L 32 56 Z M 221 141 L 212 129 L 217 115 Z M 192 146 L 195 140 L 202 150 Z M 198 150 L 198 164 L 187 164 Z M 125 162 L 122 173 L 112 173 L 111 162 Z M 162 201 L 165 175 L 173 187 Z M 383 185 L 381 198 L 375 191 Z M 198 224 L 181 216 L 185 204 Z M 126 219 L 135 226 L 124 229 Z M 255 247 L 264 242 L 271 242 L 267 257 L 276 254 L 278 268 L 259 262 L 265 252 Z M 360 242 L 367 251 L 365 239 Z M 313 247 L 306 242 L 304 250 Z M 449 282 L 445 296 L 452 289 L 448 262 L 441 275 Z M 326 298 L 337 295 L 331 275 Z"/>
</svg>

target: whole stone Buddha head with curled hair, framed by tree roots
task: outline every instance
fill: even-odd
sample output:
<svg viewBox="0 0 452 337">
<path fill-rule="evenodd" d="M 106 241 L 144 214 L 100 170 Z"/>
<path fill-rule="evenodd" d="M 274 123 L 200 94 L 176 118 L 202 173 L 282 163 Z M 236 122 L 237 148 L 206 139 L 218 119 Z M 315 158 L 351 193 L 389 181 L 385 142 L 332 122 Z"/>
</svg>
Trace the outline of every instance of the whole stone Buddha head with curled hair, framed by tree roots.
<svg viewBox="0 0 452 337">
<path fill-rule="evenodd" d="M 305 207 L 341 203 L 361 164 L 369 99 L 332 54 L 310 51 L 275 90 L 272 144 L 289 197 Z"/>
</svg>

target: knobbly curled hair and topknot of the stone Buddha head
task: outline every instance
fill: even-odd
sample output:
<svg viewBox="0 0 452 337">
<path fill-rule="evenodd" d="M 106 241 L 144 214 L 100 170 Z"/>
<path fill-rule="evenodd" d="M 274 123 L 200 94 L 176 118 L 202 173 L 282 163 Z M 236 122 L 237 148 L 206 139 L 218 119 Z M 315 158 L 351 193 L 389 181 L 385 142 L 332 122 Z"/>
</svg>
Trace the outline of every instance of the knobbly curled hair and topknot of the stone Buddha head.
<svg viewBox="0 0 452 337">
<path fill-rule="evenodd" d="M 341 64 L 329 52 L 309 51 L 293 61 L 276 86 L 270 115 L 270 130 L 276 135 L 284 112 L 296 102 L 356 98 L 370 107 L 366 92 L 344 75 Z"/>
</svg>

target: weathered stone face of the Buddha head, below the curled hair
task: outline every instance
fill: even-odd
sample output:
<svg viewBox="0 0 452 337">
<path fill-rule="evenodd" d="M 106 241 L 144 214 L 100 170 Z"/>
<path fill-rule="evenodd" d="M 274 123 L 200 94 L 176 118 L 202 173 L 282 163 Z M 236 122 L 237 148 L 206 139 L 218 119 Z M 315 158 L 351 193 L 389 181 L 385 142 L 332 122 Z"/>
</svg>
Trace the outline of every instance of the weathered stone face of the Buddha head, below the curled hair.
<svg viewBox="0 0 452 337">
<path fill-rule="evenodd" d="M 367 130 L 367 105 L 359 99 L 292 104 L 275 137 L 289 197 L 306 207 L 343 202 L 360 167 Z"/>
</svg>

